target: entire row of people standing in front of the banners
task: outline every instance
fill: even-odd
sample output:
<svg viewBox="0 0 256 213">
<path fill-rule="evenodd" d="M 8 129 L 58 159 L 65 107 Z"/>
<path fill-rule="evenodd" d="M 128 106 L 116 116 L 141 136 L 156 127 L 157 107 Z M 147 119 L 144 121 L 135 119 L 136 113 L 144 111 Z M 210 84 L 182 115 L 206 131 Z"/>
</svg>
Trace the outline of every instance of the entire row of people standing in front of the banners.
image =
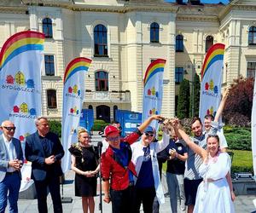
<svg viewBox="0 0 256 213">
<path fill-rule="evenodd" d="M 224 108 L 226 92 L 213 118 L 207 115 L 204 128 L 200 118 L 191 122 L 192 137 L 183 130 L 177 118 L 153 115 L 122 138 L 117 124 L 103 132 L 102 153 L 90 143 L 90 133 L 80 128 L 78 142 L 69 152 L 75 172 L 75 195 L 82 198 L 84 212 L 95 210 L 97 175 L 101 170 L 103 201 L 112 204 L 113 213 L 138 213 L 143 204 L 145 213 L 158 212 L 165 202 L 161 187 L 161 164 L 167 161 L 166 181 L 172 213 L 234 212 L 230 157 L 227 142 L 218 119 Z M 162 124 L 161 140 L 150 126 L 153 120 Z M 61 158 L 64 156 L 59 138 L 49 131 L 47 118 L 36 120 L 37 132 L 26 137 L 25 157 L 32 162 L 32 179 L 38 194 L 38 212 L 47 212 L 47 187 L 54 212 L 62 212 L 60 195 Z M 0 135 L 0 213 L 7 205 L 18 212 L 20 168 L 23 153 L 20 141 L 14 138 L 15 125 L 4 121 Z M 204 129 L 204 131 L 203 131 Z M 187 208 L 186 208 L 187 206 Z"/>
</svg>

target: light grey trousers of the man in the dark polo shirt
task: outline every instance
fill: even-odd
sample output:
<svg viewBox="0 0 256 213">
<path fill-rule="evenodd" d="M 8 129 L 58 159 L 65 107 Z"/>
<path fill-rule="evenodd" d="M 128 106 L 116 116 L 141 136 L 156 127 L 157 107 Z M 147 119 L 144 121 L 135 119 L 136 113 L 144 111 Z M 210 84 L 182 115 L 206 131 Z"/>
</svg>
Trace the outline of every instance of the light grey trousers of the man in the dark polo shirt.
<svg viewBox="0 0 256 213">
<path fill-rule="evenodd" d="M 181 210 L 185 210 L 184 176 L 166 172 L 172 213 L 177 213 L 177 199 Z"/>
</svg>

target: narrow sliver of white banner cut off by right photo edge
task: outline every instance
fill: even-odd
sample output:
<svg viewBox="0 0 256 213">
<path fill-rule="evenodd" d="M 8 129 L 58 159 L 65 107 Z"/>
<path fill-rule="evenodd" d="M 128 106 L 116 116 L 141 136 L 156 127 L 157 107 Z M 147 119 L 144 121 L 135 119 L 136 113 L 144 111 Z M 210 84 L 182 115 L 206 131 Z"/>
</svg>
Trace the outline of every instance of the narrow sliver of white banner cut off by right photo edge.
<svg viewBox="0 0 256 213">
<path fill-rule="evenodd" d="M 253 153 L 253 174 L 256 181 L 256 80 L 253 89 L 253 109 L 252 109 L 252 153 Z"/>
</svg>

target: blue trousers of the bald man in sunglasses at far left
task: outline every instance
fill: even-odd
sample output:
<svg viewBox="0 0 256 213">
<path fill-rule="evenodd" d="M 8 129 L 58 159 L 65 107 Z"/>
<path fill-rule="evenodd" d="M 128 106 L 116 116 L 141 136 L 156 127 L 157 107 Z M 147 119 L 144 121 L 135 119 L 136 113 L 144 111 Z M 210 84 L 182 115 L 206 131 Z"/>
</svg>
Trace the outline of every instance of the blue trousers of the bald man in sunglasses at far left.
<svg viewBox="0 0 256 213">
<path fill-rule="evenodd" d="M 20 176 L 18 172 L 13 175 L 6 174 L 3 181 L 0 182 L 0 213 L 4 213 L 7 206 L 7 194 L 9 191 L 9 212 L 18 212 L 18 199 L 20 191 Z"/>
</svg>

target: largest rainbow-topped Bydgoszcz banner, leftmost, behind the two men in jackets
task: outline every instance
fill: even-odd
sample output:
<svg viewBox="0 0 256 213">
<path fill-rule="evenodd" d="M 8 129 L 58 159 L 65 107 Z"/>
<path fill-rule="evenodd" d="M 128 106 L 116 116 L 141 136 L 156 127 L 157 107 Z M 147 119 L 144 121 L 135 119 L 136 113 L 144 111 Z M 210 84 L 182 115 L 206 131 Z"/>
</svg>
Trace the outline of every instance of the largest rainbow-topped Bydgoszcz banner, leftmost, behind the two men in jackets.
<svg viewBox="0 0 256 213">
<path fill-rule="evenodd" d="M 26 31 L 9 37 L 0 53 L 0 122 L 15 124 L 23 153 L 25 137 L 36 131 L 34 120 L 41 115 L 43 50 L 44 34 Z M 30 173 L 23 170 L 20 191 L 32 184 Z"/>
</svg>

